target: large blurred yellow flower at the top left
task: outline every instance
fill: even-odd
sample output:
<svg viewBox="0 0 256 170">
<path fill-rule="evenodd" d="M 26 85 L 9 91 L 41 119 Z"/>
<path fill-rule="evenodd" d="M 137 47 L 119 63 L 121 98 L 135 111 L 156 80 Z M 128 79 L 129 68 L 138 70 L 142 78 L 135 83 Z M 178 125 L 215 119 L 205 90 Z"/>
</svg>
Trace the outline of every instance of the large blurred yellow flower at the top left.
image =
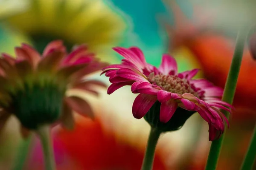
<svg viewBox="0 0 256 170">
<path fill-rule="evenodd" d="M 6 17 L 3 23 L 26 34 L 42 52 L 48 42 L 64 40 L 68 50 L 86 43 L 88 50 L 107 60 L 110 47 L 122 40 L 123 18 L 103 0 L 23 0 L 26 10 Z"/>
</svg>

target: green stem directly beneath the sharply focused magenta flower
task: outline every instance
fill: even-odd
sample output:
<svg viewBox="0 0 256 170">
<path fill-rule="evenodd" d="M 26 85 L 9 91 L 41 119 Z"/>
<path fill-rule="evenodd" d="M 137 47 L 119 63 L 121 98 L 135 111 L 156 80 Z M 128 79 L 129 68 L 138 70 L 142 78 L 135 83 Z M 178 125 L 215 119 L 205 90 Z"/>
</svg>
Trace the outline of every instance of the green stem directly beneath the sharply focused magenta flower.
<svg viewBox="0 0 256 170">
<path fill-rule="evenodd" d="M 154 162 L 154 153 L 155 153 L 157 141 L 159 139 L 160 134 L 161 134 L 161 131 L 151 127 L 141 170 L 152 170 L 153 162 Z"/>
</svg>

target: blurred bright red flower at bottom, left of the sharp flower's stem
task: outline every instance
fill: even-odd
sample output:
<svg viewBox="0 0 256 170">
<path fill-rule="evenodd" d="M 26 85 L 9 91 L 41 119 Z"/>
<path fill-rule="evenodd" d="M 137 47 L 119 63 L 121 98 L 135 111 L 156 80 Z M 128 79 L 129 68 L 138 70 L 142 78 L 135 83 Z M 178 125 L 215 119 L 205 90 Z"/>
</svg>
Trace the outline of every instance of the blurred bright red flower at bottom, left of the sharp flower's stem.
<svg viewBox="0 0 256 170">
<path fill-rule="evenodd" d="M 94 122 L 80 119 L 73 131 L 59 130 L 55 138 L 82 169 L 139 170 L 143 161 L 143 149 L 116 140 L 113 131 L 106 130 L 99 119 Z M 157 150 L 153 170 L 167 170 L 160 155 Z"/>
</svg>

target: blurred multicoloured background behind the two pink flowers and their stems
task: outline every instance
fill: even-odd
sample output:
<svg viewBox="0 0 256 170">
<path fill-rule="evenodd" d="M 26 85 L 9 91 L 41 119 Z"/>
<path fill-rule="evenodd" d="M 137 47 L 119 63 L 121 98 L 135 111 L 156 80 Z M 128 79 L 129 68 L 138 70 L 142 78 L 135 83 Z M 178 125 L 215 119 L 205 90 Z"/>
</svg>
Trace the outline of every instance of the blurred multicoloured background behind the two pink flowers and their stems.
<svg viewBox="0 0 256 170">
<path fill-rule="evenodd" d="M 61 39 L 69 49 L 85 43 L 103 61 L 118 63 L 121 57 L 111 47 L 138 46 L 152 65 L 169 53 L 179 71 L 201 68 L 198 77 L 224 88 L 236 33 L 241 26 L 252 32 L 255 7 L 253 0 L 0 0 L 0 52 L 14 54 L 21 42 L 42 51 Z M 256 122 L 255 74 L 246 44 L 218 170 L 239 169 L 247 150 Z M 99 73 L 91 77 L 108 83 Z M 97 119 L 77 116 L 74 131 L 53 129 L 58 170 L 140 170 L 149 125 L 131 114 L 136 95 L 129 87 L 111 95 L 99 91 L 98 97 L 72 92 L 90 100 Z M 13 117 L 0 132 L 0 169 L 12 169 L 16 161 L 18 127 Z M 154 170 L 203 170 L 209 147 L 208 125 L 194 114 L 183 128 L 160 138 Z M 24 170 L 43 170 L 36 136 L 28 148 Z"/>
</svg>

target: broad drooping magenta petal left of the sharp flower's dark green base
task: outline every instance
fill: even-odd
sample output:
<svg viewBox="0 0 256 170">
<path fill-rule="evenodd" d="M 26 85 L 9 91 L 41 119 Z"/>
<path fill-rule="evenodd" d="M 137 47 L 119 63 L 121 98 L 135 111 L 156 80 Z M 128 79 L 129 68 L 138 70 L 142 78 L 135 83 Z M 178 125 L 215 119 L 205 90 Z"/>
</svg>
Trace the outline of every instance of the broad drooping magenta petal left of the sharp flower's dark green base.
<svg viewBox="0 0 256 170">
<path fill-rule="evenodd" d="M 133 103 L 132 113 L 136 119 L 141 119 L 157 101 L 157 97 L 149 94 L 139 94 Z"/>
</svg>

